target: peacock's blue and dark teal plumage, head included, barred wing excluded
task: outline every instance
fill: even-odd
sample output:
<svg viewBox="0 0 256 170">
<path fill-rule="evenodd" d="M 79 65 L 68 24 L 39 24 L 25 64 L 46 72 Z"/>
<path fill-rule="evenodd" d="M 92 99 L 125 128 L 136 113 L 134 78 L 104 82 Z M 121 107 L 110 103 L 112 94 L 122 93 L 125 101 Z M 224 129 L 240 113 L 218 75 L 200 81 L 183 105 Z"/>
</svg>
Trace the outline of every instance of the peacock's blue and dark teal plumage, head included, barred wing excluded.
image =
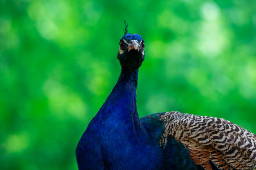
<svg viewBox="0 0 256 170">
<path fill-rule="evenodd" d="M 131 42 L 141 42 L 139 51 Z M 136 88 L 138 68 L 144 60 L 143 44 L 138 34 L 126 34 L 120 40 L 120 49 L 124 51 L 118 53 L 121 75 L 77 145 L 79 170 L 196 169 L 182 144 L 170 139 L 172 145 L 159 145 L 164 124 L 157 115 L 138 117 Z"/>
</svg>

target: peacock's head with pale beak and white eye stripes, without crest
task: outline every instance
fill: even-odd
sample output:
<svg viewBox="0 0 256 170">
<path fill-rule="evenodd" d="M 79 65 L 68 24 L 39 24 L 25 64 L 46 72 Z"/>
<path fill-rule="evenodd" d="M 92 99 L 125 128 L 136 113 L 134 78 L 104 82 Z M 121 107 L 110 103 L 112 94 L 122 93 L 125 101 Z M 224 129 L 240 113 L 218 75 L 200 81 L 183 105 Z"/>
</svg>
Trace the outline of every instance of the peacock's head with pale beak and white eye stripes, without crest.
<svg viewBox="0 0 256 170">
<path fill-rule="evenodd" d="M 122 68 L 138 69 L 145 57 L 144 40 L 138 34 L 125 34 L 119 43 L 118 60 Z"/>
</svg>

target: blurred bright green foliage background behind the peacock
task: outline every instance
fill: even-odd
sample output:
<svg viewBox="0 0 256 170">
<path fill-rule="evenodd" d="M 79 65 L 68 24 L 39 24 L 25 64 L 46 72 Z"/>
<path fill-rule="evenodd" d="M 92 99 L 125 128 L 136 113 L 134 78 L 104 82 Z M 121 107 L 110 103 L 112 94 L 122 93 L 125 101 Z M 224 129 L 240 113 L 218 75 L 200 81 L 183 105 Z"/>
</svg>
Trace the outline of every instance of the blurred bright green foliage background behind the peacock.
<svg viewBox="0 0 256 170">
<path fill-rule="evenodd" d="M 255 0 L 0 0 L 0 169 L 76 170 L 82 133 L 145 40 L 138 112 L 222 117 L 256 133 Z"/>
</svg>

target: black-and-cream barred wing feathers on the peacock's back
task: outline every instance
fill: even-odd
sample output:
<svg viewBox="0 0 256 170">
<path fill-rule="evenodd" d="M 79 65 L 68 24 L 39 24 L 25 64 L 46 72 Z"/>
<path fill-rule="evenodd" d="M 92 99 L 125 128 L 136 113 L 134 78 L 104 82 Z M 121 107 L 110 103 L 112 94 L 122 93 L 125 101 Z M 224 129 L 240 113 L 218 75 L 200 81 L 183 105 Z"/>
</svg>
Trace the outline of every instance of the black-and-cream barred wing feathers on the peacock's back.
<svg viewBox="0 0 256 170">
<path fill-rule="evenodd" d="M 256 135 L 228 121 L 180 112 L 159 113 L 165 131 L 160 145 L 173 136 L 189 150 L 197 165 L 212 170 L 209 160 L 220 170 L 256 169 Z"/>
</svg>

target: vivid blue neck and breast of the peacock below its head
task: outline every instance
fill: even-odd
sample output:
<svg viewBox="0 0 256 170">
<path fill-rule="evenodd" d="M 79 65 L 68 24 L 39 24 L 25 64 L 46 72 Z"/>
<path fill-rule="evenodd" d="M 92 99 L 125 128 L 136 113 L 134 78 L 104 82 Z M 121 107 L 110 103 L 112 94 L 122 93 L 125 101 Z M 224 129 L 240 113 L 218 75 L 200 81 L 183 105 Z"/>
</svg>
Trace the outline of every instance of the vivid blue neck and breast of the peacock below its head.
<svg viewBox="0 0 256 170">
<path fill-rule="evenodd" d="M 118 82 L 79 141 L 79 169 L 160 168 L 160 147 L 138 117 L 137 81 L 138 69 L 122 68 Z"/>
</svg>

